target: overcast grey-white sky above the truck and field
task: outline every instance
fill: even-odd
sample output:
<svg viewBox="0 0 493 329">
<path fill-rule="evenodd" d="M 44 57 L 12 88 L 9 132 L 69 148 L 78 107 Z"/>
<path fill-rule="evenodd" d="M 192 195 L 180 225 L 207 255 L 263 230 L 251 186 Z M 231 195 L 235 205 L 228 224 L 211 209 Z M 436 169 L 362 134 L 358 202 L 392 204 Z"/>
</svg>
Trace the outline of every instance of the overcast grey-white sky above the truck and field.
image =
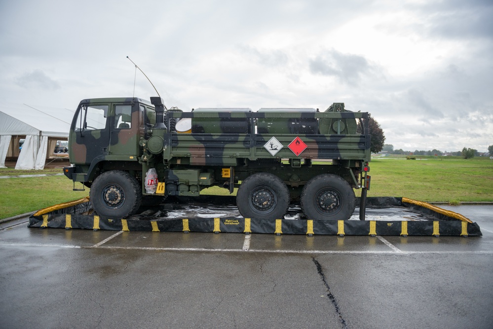
<svg viewBox="0 0 493 329">
<path fill-rule="evenodd" d="M 372 113 L 395 149 L 493 144 L 492 0 L 4 0 L 0 100 Z"/>
</svg>

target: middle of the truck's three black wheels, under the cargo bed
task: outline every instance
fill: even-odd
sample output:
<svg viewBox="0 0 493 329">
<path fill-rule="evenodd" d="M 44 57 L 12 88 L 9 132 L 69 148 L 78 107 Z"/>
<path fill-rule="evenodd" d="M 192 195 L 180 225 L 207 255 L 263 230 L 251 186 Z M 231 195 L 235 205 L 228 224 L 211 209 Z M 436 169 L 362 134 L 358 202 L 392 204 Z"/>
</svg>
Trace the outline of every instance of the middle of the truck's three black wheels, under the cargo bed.
<svg viewBox="0 0 493 329">
<path fill-rule="evenodd" d="M 238 188 L 236 205 L 245 218 L 282 219 L 289 207 L 288 186 L 277 176 L 257 173 Z"/>
</svg>

